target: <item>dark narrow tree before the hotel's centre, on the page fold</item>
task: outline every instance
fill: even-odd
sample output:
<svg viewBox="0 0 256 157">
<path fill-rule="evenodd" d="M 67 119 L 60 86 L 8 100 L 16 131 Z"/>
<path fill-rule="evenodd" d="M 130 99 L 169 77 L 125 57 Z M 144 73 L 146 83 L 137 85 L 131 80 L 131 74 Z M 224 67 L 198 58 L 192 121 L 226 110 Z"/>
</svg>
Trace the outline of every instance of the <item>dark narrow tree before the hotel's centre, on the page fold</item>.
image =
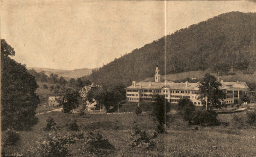
<svg viewBox="0 0 256 157">
<path fill-rule="evenodd" d="M 166 108 L 165 108 L 166 106 Z M 164 95 L 156 94 L 154 96 L 154 102 L 152 103 L 151 113 L 149 114 L 153 122 L 157 125 L 156 131 L 158 133 L 164 133 L 165 126 L 164 124 L 169 121 L 169 117 L 165 114 L 170 111 L 170 103 L 165 100 Z"/>
</svg>

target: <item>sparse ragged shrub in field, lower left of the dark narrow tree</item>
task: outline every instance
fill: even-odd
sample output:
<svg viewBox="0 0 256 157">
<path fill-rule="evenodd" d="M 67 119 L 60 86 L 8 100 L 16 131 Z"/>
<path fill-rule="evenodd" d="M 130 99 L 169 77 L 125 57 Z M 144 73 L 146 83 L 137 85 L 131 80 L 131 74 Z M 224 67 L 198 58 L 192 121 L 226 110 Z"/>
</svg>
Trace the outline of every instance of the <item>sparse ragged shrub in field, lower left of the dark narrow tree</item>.
<svg viewBox="0 0 256 157">
<path fill-rule="evenodd" d="M 130 146 L 132 148 L 139 147 L 142 149 L 152 149 L 156 147 L 156 142 L 154 139 L 157 137 L 156 132 L 150 132 L 147 134 L 145 130 L 140 130 L 136 122 L 133 123 L 132 127 L 132 138 L 130 139 Z"/>
</svg>

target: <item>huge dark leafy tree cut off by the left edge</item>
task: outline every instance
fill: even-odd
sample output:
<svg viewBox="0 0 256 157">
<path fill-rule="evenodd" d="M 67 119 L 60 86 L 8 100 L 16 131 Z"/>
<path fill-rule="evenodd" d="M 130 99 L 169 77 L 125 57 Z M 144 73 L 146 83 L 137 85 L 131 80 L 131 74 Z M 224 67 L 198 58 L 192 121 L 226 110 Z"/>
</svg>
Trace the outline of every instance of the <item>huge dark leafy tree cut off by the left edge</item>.
<svg viewBox="0 0 256 157">
<path fill-rule="evenodd" d="M 8 56 L 14 54 L 14 49 L 1 39 L 1 125 L 2 130 L 29 130 L 38 123 L 38 85 L 26 66 Z"/>
</svg>

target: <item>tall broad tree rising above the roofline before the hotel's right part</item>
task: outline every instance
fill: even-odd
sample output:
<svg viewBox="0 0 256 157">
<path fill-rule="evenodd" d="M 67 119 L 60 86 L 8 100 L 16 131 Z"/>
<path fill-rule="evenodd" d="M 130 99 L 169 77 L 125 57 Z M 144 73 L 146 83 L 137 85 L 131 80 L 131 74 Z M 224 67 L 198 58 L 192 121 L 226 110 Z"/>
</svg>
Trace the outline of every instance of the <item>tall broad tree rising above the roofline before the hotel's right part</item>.
<svg viewBox="0 0 256 157">
<path fill-rule="evenodd" d="M 206 106 L 207 100 L 207 105 L 210 108 L 221 108 L 219 100 L 225 98 L 225 93 L 220 90 L 219 86 L 221 86 L 221 83 L 213 75 L 207 73 L 198 87 L 198 100 L 201 100 L 204 106 Z"/>
</svg>

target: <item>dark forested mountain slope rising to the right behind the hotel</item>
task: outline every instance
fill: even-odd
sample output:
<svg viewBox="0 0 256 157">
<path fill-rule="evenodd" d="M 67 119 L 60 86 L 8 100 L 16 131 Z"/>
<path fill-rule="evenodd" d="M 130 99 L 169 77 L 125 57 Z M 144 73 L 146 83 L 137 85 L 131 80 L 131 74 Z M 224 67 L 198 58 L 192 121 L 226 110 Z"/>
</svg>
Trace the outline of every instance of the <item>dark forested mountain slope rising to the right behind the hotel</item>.
<svg viewBox="0 0 256 157">
<path fill-rule="evenodd" d="M 180 29 L 167 38 L 167 74 L 211 69 L 255 72 L 255 13 L 230 12 Z M 138 39 L 139 40 L 139 39 Z M 135 41 L 136 42 L 136 41 Z M 130 85 L 165 69 L 165 37 L 135 49 L 86 76 L 96 84 Z M 85 76 L 83 77 L 85 79 Z"/>
</svg>

